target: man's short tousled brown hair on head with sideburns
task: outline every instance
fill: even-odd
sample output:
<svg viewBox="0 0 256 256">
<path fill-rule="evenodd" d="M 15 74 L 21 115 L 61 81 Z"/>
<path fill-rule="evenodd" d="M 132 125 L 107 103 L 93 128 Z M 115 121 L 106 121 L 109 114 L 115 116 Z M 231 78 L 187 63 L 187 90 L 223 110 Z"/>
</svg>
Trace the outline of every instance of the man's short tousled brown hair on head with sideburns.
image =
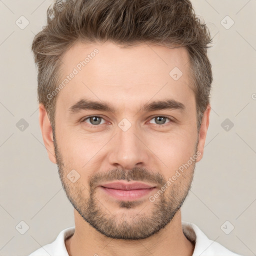
<svg viewBox="0 0 256 256">
<path fill-rule="evenodd" d="M 56 96 L 47 95 L 59 82 L 61 56 L 77 41 L 106 40 L 125 47 L 143 42 L 186 47 L 199 131 L 212 82 L 207 57 L 211 38 L 189 0 L 55 0 L 47 10 L 47 25 L 32 42 L 38 101 L 53 129 Z"/>
</svg>

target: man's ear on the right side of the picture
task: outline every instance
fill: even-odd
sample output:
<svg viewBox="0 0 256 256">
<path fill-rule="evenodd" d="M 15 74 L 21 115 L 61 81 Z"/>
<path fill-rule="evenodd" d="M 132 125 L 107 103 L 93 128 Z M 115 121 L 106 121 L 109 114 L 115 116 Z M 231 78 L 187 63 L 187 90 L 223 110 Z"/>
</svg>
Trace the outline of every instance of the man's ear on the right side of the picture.
<svg viewBox="0 0 256 256">
<path fill-rule="evenodd" d="M 209 126 L 210 109 L 211 109 L 210 104 L 208 104 L 202 116 L 201 126 L 198 134 L 198 144 L 197 144 L 197 151 L 200 152 L 200 155 L 198 154 L 198 157 L 195 160 L 196 162 L 200 161 L 203 155 L 203 148 L 204 148 L 204 143 L 206 139 L 206 133 Z"/>
</svg>

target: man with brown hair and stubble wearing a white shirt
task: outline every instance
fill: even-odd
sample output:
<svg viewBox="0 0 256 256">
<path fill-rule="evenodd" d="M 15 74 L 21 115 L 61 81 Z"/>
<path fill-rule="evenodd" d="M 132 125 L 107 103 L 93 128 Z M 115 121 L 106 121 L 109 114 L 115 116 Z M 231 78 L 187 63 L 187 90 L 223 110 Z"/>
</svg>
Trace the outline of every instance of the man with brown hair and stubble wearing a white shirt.
<svg viewBox="0 0 256 256">
<path fill-rule="evenodd" d="M 39 124 L 75 227 L 30 255 L 237 255 L 181 221 L 212 82 L 190 1 L 57 0 L 47 17 Z"/>
</svg>

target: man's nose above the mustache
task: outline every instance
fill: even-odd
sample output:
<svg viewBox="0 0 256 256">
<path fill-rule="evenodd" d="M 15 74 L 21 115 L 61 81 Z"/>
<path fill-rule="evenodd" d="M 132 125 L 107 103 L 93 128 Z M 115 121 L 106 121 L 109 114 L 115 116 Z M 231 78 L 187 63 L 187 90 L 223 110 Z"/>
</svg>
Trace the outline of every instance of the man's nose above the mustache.
<svg viewBox="0 0 256 256">
<path fill-rule="evenodd" d="M 145 138 L 135 125 L 131 125 L 126 131 L 117 127 L 117 134 L 113 137 L 109 152 L 109 164 L 123 169 L 142 167 L 150 159 Z"/>
</svg>

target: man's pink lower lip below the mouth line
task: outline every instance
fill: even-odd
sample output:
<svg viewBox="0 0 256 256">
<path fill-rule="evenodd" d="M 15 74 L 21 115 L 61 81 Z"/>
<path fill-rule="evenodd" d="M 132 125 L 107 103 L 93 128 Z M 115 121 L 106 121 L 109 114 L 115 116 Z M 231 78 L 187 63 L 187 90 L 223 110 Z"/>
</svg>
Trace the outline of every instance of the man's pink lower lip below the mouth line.
<svg viewBox="0 0 256 256">
<path fill-rule="evenodd" d="M 121 190 L 100 186 L 107 194 L 115 197 L 119 200 L 135 200 L 147 195 L 150 191 L 155 189 L 156 187 L 150 188 L 141 188 L 141 189 L 133 189 L 133 190 Z"/>
</svg>

